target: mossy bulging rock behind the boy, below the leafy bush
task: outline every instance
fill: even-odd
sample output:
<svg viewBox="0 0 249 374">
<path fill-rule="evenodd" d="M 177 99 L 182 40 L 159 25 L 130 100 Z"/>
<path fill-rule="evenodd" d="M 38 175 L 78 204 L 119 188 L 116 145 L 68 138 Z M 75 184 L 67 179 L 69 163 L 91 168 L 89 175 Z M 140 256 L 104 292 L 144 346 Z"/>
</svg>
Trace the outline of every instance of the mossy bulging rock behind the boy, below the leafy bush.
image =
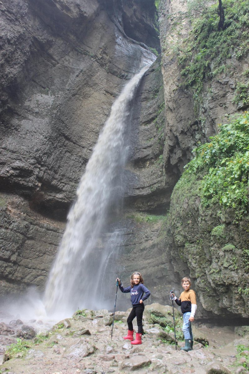
<svg viewBox="0 0 249 374">
<path fill-rule="evenodd" d="M 184 178 L 172 194 L 173 267 L 194 279 L 202 315 L 248 318 L 249 295 L 239 292 L 248 288 L 248 217 L 236 224 L 232 209 L 203 208 L 199 187 L 199 178 Z"/>
</svg>

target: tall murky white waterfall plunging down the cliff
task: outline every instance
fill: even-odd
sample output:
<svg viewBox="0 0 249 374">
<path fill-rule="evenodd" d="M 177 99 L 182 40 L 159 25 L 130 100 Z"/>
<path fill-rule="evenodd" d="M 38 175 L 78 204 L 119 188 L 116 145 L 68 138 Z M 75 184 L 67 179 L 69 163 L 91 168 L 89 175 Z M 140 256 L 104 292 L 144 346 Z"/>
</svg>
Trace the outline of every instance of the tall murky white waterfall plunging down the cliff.
<svg viewBox="0 0 249 374">
<path fill-rule="evenodd" d="M 72 314 L 80 307 L 100 309 L 106 307 L 104 271 L 115 233 L 100 252 L 99 240 L 108 218 L 108 212 L 122 198 L 122 173 L 128 157 L 128 124 L 131 102 L 140 80 L 148 67 L 144 67 L 124 87 L 113 103 L 85 173 L 77 189 L 77 200 L 72 206 L 62 241 L 50 272 L 44 295 L 49 315 Z M 109 252 L 108 252 L 109 251 Z M 113 279 L 115 284 L 115 279 Z M 102 291 L 101 291 L 102 290 Z"/>
</svg>

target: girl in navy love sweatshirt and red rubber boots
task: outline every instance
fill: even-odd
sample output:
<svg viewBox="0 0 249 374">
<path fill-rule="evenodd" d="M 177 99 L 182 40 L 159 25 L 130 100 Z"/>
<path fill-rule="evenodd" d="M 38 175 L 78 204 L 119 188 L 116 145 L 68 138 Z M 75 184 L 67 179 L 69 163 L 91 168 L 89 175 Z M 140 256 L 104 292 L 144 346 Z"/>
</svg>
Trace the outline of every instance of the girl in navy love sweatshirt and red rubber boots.
<svg viewBox="0 0 249 374">
<path fill-rule="evenodd" d="M 122 292 L 130 292 L 131 293 L 131 304 L 132 310 L 130 315 L 127 318 L 128 323 L 128 333 L 127 336 L 124 336 L 124 339 L 131 340 L 131 344 L 142 344 L 141 337 L 143 333 L 143 324 L 142 324 L 142 317 L 144 311 L 144 303 L 143 301 L 146 300 L 149 295 L 150 291 L 143 285 L 143 277 L 141 273 L 133 273 L 131 275 L 131 285 L 129 287 L 124 288 L 120 279 L 117 278 L 119 288 Z M 143 296 L 143 294 L 145 295 Z M 137 317 L 137 334 L 136 339 L 133 340 L 133 319 Z"/>
</svg>

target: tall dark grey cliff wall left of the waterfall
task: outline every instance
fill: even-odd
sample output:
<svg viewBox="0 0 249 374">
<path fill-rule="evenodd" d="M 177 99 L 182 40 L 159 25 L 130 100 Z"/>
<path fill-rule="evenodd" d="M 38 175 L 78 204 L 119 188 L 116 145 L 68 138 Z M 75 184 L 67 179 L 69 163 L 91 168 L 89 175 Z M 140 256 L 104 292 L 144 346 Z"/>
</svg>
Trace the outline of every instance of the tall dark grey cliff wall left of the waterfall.
<svg viewBox="0 0 249 374">
<path fill-rule="evenodd" d="M 155 59 L 148 46 L 160 48 L 155 6 L 18 0 L 1 1 L 0 12 L 2 289 L 43 288 L 58 221 L 111 105 Z"/>
</svg>

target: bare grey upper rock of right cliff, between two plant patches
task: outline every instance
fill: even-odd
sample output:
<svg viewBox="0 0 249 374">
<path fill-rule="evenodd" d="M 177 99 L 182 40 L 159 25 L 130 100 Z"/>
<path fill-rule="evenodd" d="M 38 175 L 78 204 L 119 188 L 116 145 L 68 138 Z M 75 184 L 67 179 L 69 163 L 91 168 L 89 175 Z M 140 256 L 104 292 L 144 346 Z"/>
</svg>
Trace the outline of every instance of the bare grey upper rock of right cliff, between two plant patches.
<svg viewBox="0 0 249 374">
<path fill-rule="evenodd" d="M 215 3 L 215 1 L 211 1 Z M 162 75 L 165 95 L 165 147 L 166 172 L 174 171 L 179 177 L 192 150 L 218 132 L 217 124 L 227 114 L 241 110 L 233 103 L 238 81 L 244 82 L 243 72 L 248 69 L 247 58 L 239 61 L 235 55 L 225 61 L 234 70 L 221 73 L 215 79 L 203 77 L 203 90 L 194 103 L 191 89 L 184 88 L 181 66 L 175 51 L 192 30 L 187 13 L 187 1 L 161 1 L 159 10 L 160 41 L 162 48 Z"/>
</svg>

